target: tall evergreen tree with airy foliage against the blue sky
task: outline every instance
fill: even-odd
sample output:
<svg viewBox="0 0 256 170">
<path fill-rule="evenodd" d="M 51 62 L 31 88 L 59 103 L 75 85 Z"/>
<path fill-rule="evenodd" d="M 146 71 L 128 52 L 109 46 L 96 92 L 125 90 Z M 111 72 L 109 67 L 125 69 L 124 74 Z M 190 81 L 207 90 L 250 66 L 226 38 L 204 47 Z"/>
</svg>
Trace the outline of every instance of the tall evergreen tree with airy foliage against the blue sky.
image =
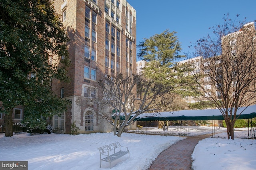
<svg viewBox="0 0 256 170">
<path fill-rule="evenodd" d="M 161 83 L 164 86 L 172 86 L 172 90 L 166 92 L 158 101 L 162 111 L 173 111 L 175 100 L 180 100 L 180 96 L 195 96 L 196 94 L 190 90 L 188 84 L 193 84 L 192 76 L 188 72 L 192 71 L 191 65 L 177 64 L 180 59 L 184 59 L 184 55 L 180 55 L 181 44 L 176 32 L 166 30 L 160 34 L 153 35 L 148 39 L 140 42 L 138 48 L 140 52 L 138 57 L 147 62 L 147 66 L 143 68 L 143 76 Z M 180 107 L 184 109 L 184 107 Z M 158 108 L 159 109 L 159 108 Z"/>
</svg>

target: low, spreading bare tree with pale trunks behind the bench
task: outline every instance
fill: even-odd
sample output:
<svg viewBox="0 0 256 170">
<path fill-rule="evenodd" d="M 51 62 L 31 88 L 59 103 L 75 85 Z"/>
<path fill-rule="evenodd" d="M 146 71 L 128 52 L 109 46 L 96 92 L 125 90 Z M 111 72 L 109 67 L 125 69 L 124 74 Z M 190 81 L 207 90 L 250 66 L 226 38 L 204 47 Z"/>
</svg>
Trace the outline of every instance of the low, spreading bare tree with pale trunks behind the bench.
<svg viewBox="0 0 256 170">
<path fill-rule="evenodd" d="M 138 115 L 156 111 L 154 109 L 156 99 L 172 88 L 143 79 L 140 75 L 124 77 L 120 73 L 115 77 L 108 76 L 98 83 L 103 92 L 100 107 L 112 107 L 115 112 L 100 114 L 113 125 L 114 135 L 118 137 Z M 114 121 L 112 121 L 113 118 Z M 120 127 L 118 127 L 119 122 Z"/>
</svg>

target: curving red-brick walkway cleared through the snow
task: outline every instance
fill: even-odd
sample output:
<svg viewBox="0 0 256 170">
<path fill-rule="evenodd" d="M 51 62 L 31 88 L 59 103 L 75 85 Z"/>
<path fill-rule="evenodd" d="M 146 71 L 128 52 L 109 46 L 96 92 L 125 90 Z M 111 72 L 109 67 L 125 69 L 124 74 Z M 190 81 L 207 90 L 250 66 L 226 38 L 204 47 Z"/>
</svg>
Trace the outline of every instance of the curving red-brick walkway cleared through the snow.
<svg viewBox="0 0 256 170">
<path fill-rule="evenodd" d="M 150 165 L 148 170 L 191 170 L 191 155 L 198 141 L 212 134 L 188 137 L 164 150 Z"/>
</svg>

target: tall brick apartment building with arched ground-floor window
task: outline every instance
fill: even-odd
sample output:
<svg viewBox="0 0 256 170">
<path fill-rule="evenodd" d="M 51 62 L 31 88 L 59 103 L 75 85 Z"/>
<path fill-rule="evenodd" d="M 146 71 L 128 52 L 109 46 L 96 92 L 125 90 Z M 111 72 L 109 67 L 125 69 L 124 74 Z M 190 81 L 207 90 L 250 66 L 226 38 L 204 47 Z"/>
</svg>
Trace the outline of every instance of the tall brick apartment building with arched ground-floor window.
<svg viewBox="0 0 256 170">
<path fill-rule="evenodd" d="M 70 42 L 70 84 L 54 81 L 56 95 L 72 102 L 52 124 L 59 133 L 70 133 L 75 121 L 80 133 L 110 132 L 100 116 L 98 80 L 120 72 L 136 74 L 136 11 L 126 0 L 54 0 Z"/>
</svg>

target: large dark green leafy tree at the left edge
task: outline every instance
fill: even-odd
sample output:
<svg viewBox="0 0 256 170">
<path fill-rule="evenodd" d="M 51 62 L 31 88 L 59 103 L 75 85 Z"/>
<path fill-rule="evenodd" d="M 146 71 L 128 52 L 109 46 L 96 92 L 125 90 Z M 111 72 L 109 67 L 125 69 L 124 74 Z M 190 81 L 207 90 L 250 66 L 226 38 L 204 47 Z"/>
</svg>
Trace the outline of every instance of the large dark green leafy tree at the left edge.
<svg viewBox="0 0 256 170">
<path fill-rule="evenodd" d="M 0 101 L 5 136 L 12 136 L 12 112 L 23 105 L 25 119 L 60 114 L 67 101 L 51 92 L 51 80 L 69 81 L 65 35 L 52 0 L 0 1 Z M 33 76 L 31 76 L 33 75 Z"/>
</svg>

